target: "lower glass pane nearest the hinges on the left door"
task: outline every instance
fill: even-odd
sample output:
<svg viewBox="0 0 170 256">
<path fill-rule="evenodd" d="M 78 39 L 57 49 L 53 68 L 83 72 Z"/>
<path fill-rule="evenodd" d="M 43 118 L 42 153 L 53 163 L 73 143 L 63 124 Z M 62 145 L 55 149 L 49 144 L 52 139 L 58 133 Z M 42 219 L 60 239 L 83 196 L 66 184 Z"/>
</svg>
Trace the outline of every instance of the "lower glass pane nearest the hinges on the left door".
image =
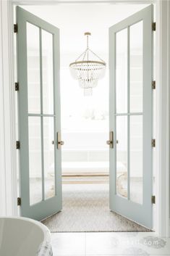
<svg viewBox="0 0 170 256">
<path fill-rule="evenodd" d="M 41 117 L 28 117 L 30 205 L 42 200 Z"/>
</svg>

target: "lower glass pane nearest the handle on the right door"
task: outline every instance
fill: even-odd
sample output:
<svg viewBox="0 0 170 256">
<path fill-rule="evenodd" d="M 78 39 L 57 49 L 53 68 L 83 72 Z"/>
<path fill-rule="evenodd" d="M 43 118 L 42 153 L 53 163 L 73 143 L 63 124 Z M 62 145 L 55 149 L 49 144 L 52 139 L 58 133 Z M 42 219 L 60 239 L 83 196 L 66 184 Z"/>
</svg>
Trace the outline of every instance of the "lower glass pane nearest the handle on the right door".
<svg viewBox="0 0 170 256">
<path fill-rule="evenodd" d="M 127 116 L 116 118 L 116 194 L 127 197 Z"/>
</svg>

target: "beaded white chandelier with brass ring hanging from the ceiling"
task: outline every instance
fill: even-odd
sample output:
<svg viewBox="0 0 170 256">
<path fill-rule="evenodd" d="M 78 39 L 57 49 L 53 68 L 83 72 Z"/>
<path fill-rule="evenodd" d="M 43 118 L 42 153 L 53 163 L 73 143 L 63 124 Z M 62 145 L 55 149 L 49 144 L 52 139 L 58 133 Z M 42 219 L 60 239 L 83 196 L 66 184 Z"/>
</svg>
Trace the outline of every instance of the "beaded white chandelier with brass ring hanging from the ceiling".
<svg viewBox="0 0 170 256">
<path fill-rule="evenodd" d="M 106 62 L 89 49 L 88 36 L 91 36 L 91 33 L 86 32 L 85 36 L 87 36 L 87 48 L 69 67 L 73 78 L 77 79 L 80 88 L 84 89 L 84 95 L 90 96 L 92 89 L 98 84 L 98 79 L 105 74 Z"/>
</svg>

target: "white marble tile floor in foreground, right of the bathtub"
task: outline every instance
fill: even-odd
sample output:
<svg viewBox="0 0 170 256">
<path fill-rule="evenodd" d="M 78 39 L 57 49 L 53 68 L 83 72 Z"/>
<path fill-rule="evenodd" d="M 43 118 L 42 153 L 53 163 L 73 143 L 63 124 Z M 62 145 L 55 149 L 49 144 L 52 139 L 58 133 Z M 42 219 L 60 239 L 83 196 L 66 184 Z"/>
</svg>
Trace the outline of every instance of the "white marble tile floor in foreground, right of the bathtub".
<svg viewBox="0 0 170 256">
<path fill-rule="evenodd" d="M 170 256 L 170 239 L 153 232 L 53 233 L 51 244 L 54 256 Z"/>
</svg>

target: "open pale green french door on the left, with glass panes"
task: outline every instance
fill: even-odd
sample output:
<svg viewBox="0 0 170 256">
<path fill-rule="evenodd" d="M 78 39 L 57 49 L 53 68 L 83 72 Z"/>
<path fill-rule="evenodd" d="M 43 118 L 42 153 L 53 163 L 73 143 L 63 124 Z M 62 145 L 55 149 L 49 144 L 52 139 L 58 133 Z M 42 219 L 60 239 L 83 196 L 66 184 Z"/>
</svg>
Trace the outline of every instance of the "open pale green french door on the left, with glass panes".
<svg viewBox="0 0 170 256">
<path fill-rule="evenodd" d="M 61 210 L 59 29 L 20 7 L 17 77 L 21 215 L 42 220 Z"/>
</svg>

